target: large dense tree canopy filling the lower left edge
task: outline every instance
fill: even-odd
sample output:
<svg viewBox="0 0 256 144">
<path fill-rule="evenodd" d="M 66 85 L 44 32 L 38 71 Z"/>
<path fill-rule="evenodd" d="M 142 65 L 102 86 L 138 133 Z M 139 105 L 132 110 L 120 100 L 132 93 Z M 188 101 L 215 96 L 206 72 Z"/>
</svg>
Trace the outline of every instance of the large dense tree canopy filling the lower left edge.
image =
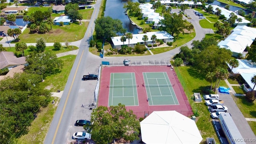
<svg viewBox="0 0 256 144">
<path fill-rule="evenodd" d="M 28 133 L 28 127 L 40 111 L 50 102 L 50 91 L 39 87 L 41 76 L 14 74 L 0 84 L 0 139 L 3 144 Z"/>
</svg>

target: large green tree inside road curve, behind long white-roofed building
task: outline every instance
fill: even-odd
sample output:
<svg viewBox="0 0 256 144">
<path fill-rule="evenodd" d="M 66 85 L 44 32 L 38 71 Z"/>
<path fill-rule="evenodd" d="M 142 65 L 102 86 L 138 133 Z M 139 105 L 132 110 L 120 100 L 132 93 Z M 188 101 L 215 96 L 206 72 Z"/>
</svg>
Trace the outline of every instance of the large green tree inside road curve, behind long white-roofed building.
<svg viewBox="0 0 256 144">
<path fill-rule="evenodd" d="M 176 13 L 172 15 L 164 14 L 164 19 L 160 20 L 159 24 L 161 24 L 161 30 L 172 34 L 172 36 L 176 34 L 174 37 L 178 37 L 181 32 L 184 33 L 183 29 L 186 28 L 185 20 L 182 20 L 181 13 L 179 15 Z"/>
</svg>

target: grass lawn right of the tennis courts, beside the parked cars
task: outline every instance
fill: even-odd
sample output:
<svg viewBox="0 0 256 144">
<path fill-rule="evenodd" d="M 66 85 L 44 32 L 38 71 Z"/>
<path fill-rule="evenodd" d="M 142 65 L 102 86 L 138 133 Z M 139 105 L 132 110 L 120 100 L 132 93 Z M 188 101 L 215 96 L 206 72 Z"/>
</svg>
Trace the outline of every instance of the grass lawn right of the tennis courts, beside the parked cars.
<svg viewBox="0 0 256 144">
<path fill-rule="evenodd" d="M 184 82 L 186 83 L 186 87 L 188 88 L 190 96 L 194 92 L 200 92 L 201 94 L 203 94 L 201 89 L 204 88 L 204 86 L 210 86 L 210 82 L 207 82 L 204 79 L 205 76 L 198 73 L 198 71 L 194 70 L 192 67 L 180 66 L 180 67 L 178 67 L 178 70 L 179 70 Z M 175 69 L 175 71 L 176 71 L 176 69 Z M 178 72 L 177 72 L 177 75 L 179 75 Z M 179 76 L 178 76 L 178 78 L 180 79 Z M 226 83 L 224 82 L 224 80 L 221 80 L 220 86 L 226 86 Z M 188 96 L 188 99 L 191 98 L 190 96 Z M 207 106 L 204 104 L 204 100 L 201 103 L 192 102 L 190 104 L 191 105 L 193 104 L 198 109 L 199 116 L 197 117 L 196 125 L 198 126 L 198 129 L 200 130 L 200 134 L 202 135 L 203 140 L 205 140 L 206 137 L 212 137 L 212 138 L 215 138 L 217 143 L 220 143 L 218 141 L 218 137 L 216 135 L 216 132 L 214 131 L 212 123 L 211 123 L 211 121 L 209 121 L 210 112 L 208 111 Z"/>
</svg>

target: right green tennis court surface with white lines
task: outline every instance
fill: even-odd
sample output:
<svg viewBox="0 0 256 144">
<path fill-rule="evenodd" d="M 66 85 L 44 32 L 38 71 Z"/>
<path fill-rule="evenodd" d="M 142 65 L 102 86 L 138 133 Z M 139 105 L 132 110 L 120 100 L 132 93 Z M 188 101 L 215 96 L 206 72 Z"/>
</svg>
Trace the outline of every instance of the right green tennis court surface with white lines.
<svg viewBox="0 0 256 144">
<path fill-rule="evenodd" d="M 171 84 L 166 72 L 143 72 L 143 78 L 150 106 L 179 105 L 174 84 Z"/>
</svg>

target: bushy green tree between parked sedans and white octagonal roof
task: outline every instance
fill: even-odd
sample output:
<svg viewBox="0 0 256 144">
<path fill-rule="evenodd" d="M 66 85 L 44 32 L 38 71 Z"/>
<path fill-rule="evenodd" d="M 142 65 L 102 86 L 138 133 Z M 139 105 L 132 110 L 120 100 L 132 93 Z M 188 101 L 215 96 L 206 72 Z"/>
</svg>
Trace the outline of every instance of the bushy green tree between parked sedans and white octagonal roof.
<svg viewBox="0 0 256 144">
<path fill-rule="evenodd" d="M 108 144 L 115 138 L 123 138 L 131 142 L 138 139 L 140 122 L 132 110 L 126 111 L 123 104 L 118 106 L 99 106 L 94 109 L 91 116 L 94 122 L 92 129 L 92 139 L 99 144 Z"/>
</svg>

